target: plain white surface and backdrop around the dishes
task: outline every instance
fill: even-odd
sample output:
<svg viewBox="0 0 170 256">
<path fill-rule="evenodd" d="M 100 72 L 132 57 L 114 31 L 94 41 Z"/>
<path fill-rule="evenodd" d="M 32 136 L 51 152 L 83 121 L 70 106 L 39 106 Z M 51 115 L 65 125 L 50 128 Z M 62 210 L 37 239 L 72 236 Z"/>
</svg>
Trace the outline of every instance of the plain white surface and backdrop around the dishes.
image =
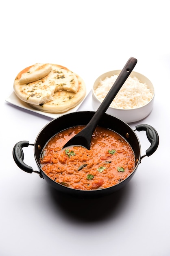
<svg viewBox="0 0 170 256">
<path fill-rule="evenodd" d="M 0 256 L 170 255 L 169 1 L 110 4 L 1 4 Z M 21 171 L 13 146 L 20 140 L 34 143 L 51 118 L 5 101 L 16 74 L 36 62 L 57 63 L 92 88 L 100 74 L 122 69 L 131 56 L 138 60 L 134 71 L 155 87 L 153 111 L 137 124 L 155 127 L 160 143 L 142 159 L 129 184 L 106 198 L 78 202 L 61 198 L 37 174 Z M 92 110 L 91 94 L 80 110 Z M 145 152 L 150 145 L 145 132 L 137 135 Z M 24 156 L 36 169 L 32 146 Z"/>
</svg>

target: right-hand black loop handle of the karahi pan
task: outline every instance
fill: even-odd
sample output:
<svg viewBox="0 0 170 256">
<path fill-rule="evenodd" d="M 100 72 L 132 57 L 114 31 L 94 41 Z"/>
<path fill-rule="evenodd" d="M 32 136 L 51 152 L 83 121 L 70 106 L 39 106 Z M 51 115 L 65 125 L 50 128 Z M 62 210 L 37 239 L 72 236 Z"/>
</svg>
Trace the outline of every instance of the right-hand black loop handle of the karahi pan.
<svg viewBox="0 0 170 256">
<path fill-rule="evenodd" d="M 141 159 L 145 156 L 150 156 L 152 155 L 156 150 L 159 145 L 159 135 L 155 128 L 148 124 L 139 124 L 135 127 L 138 132 L 140 131 L 146 131 L 146 136 L 148 140 L 150 141 L 151 145 L 150 147 L 146 150 L 146 154 L 141 157 Z"/>
</svg>

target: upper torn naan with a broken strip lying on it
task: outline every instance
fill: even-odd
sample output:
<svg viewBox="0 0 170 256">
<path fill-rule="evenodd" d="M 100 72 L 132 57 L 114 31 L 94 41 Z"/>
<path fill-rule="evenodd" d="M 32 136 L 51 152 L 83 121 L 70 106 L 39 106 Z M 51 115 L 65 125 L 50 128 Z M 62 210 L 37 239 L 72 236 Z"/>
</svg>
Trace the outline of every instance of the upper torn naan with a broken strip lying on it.
<svg viewBox="0 0 170 256">
<path fill-rule="evenodd" d="M 38 80 L 35 80 L 36 77 Z M 55 92 L 66 91 L 76 94 L 78 88 L 78 79 L 68 68 L 57 64 L 40 63 L 22 70 L 13 85 L 18 98 L 37 106 L 52 101 Z"/>
</svg>

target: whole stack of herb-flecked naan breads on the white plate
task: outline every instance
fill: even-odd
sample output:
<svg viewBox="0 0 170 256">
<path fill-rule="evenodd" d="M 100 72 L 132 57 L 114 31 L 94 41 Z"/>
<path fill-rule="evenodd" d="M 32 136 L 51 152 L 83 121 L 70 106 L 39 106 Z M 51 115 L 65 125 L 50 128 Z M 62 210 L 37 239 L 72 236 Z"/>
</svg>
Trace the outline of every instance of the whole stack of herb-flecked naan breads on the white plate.
<svg viewBox="0 0 170 256">
<path fill-rule="evenodd" d="M 36 63 L 26 67 L 15 78 L 13 89 L 29 106 L 51 113 L 74 108 L 86 94 L 83 79 L 57 64 Z"/>
</svg>

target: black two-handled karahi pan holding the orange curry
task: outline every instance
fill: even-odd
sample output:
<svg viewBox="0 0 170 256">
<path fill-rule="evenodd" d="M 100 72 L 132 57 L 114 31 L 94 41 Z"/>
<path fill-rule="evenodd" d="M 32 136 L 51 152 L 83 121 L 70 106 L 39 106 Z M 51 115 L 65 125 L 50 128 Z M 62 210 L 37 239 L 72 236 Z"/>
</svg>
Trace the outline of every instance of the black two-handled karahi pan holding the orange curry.
<svg viewBox="0 0 170 256">
<path fill-rule="evenodd" d="M 131 180 L 131 178 L 133 177 L 133 175 L 137 170 L 137 167 L 141 163 L 141 160 L 146 156 L 149 157 L 157 150 L 157 147 L 159 145 L 159 136 L 155 128 L 153 128 L 148 124 L 140 124 L 135 127 L 135 130 L 137 131 L 146 131 L 146 136 L 150 141 L 150 147 L 146 150 L 146 154 L 141 156 L 141 145 L 140 145 L 139 139 L 136 135 L 135 130 L 133 130 L 128 124 L 108 114 L 104 114 L 98 123 L 98 126 L 109 128 L 117 132 L 118 134 L 120 134 L 122 137 L 124 137 L 124 139 L 126 139 L 126 141 L 129 142 L 129 144 L 131 145 L 135 153 L 134 171 L 125 180 L 121 181 L 119 184 L 116 184 L 106 189 L 97 189 L 97 190 L 90 190 L 90 191 L 72 189 L 50 179 L 41 169 L 41 166 L 39 163 L 41 152 L 44 146 L 49 141 L 49 139 L 51 139 L 58 132 L 61 132 L 62 130 L 65 130 L 67 128 L 78 126 L 78 125 L 87 125 L 88 122 L 92 119 L 94 113 L 95 112 L 93 111 L 73 112 L 71 114 L 66 114 L 50 121 L 39 132 L 39 134 L 37 135 L 37 138 L 35 139 L 35 143 L 31 144 L 29 141 L 20 141 L 17 144 L 15 144 L 13 148 L 13 158 L 15 160 L 15 163 L 23 171 L 27 173 L 34 172 L 39 174 L 41 178 L 46 180 L 46 182 L 48 182 L 48 184 L 50 184 L 57 191 L 60 191 L 62 193 L 68 193 L 69 195 L 81 196 L 82 198 L 86 196 L 87 197 L 102 196 L 102 195 L 113 193 L 121 189 Z M 28 166 L 26 163 L 24 163 L 24 153 L 22 148 L 28 147 L 29 145 L 34 146 L 34 157 L 38 166 L 38 170 L 33 170 L 31 166 Z"/>
</svg>

